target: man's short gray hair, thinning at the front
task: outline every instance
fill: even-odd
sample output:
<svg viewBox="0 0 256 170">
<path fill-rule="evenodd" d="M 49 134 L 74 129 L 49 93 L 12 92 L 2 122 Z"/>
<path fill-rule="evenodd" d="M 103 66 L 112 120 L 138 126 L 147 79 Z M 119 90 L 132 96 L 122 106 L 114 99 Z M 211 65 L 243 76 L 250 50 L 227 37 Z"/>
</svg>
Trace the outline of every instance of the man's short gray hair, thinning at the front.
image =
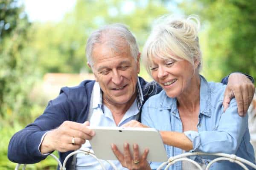
<svg viewBox="0 0 256 170">
<path fill-rule="evenodd" d="M 137 59 L 139 48 L 137 41 L 131 31 L 123 24 L 110 24 L 94 31 L 87 40 L 86 57 L 87 62 L 93 66 L 93 48 L 95 44 L 106 43 L 110 48 L 119 52 L 123 43 L 127 43 L 130 47 L 131 55 Z M 137 60 L 136 60 L 137 61 Z"/>
</svg>

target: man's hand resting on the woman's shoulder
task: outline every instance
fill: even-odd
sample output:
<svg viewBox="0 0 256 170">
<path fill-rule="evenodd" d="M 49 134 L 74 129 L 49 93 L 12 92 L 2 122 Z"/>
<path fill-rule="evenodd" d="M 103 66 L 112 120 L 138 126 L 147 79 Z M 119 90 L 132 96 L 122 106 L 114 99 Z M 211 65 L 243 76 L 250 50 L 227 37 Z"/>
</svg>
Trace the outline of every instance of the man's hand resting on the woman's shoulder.
<svg viewBox="0 0 256 170">
<path fill-rule="evenodd" d="M 227 88 L 224 93 L 224 112 L 230 100 L 235 97 L 239 116 L 245 116 L 254 95 L 254 85 L 244 74 L 232 73 L 228 78 Z"/>
</svg>

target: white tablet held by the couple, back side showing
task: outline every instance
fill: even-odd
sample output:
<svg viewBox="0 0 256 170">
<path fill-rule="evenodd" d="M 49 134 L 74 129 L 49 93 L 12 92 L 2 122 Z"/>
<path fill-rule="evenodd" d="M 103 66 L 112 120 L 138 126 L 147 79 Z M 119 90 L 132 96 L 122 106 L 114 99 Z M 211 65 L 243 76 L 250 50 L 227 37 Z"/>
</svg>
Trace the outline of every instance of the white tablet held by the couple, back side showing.
<svg viewBox="0 0 256 170">
<path fill-rule="evenodd" d="M 89 127 L 89 126 L 88 126 Z M 117 160 L 111 144 L 116 144 L 123 153 L 124 143 L 129 143 L 131 156 L 133 156 L 133 144 L 139 146 L 140 156 L 146 148 L 149 149 L 147 161 L 163 162 L 168 157 L 160 133 L 154 128 L 134 127 L 89 127 L 95 131 L 95 136 L 89 141 L 95 156 L 104 160 Z"/>
</svg>

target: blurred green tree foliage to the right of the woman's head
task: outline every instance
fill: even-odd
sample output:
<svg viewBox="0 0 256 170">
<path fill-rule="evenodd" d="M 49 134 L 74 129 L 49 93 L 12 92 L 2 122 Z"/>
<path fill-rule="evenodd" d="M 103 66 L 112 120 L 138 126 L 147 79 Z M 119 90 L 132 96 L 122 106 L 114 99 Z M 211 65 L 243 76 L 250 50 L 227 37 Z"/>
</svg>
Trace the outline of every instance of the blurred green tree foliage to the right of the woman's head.
<svg viewBox="0 0 256 170">
<path fill-rule="evenodd" d="M 181 5 L 186 14 L 204 20 L 204 73 L 219 80 L 232 71 L 256 78 L 256 1 L 191 0 Z"/>
</svg>

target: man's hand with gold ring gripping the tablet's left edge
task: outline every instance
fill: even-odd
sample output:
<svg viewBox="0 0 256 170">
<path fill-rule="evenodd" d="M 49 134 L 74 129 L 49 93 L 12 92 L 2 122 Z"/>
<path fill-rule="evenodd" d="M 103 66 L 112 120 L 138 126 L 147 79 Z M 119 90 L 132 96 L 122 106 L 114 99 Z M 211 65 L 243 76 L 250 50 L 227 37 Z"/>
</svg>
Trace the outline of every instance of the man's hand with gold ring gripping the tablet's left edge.
<svg viewBox="0 0 256 170">
<path fill-rule="evenodd" d="M 95 132 L 88 129 L 89 122 L 83 124 L 71 121 L 63 122 L 58 128 L 50 130 L 41 144 L 41 153 L 50 153 L 54 150 L 67 152 L 78 150 L 86 140 L 90 140 Z M 74 138 L 74 139 L 73 139 Z M 74 142 L 72 144 L 72 142 Z"/>
</svg>

